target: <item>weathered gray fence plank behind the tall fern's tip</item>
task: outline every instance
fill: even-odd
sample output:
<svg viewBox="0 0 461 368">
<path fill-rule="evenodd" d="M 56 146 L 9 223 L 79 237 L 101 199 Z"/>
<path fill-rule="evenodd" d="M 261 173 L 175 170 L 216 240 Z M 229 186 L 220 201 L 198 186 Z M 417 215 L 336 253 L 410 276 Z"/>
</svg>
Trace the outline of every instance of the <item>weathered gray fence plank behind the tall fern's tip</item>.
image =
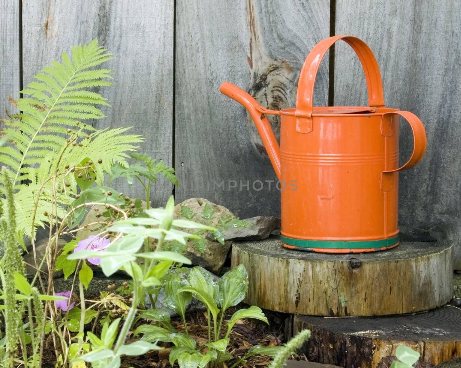
<svg viewBox="0 0 461 368">
<path fill-rule="evenodd" d="M 100 89 L 112 108 L 96 127 L 132 126 L 146 139 L 144 152 L 172 165 L 173 2 L 24 0 L 24 85 L 63 51 L 94 38 L 117 57 L 106 63 L 116 86 Z M 145 197 L 139 183 L 114 186 Z M 153 205 L 163 205 L 171 190 L 165 179 L 154 184 Z"/>
</svg>

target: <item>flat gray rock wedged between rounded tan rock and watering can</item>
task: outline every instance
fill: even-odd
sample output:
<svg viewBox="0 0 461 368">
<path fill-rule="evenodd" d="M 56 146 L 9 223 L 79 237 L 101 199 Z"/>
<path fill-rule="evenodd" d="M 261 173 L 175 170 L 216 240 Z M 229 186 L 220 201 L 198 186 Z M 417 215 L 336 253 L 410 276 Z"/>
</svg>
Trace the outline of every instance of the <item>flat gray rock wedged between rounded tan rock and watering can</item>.
<svg viewBox="0 0 461 368">
<path fill-rule="evenodd" d="M 250 225 L 247 227 L 229 227 L 224 229 L 224 240 L 263 240 L 271 235 L 272 231 L 280 229 L 280 219 L 276 217 L 256 216 L 245 219 Z M 207 239 L 213 240 L 213 235 L 207 233 Z"/>
</svg>

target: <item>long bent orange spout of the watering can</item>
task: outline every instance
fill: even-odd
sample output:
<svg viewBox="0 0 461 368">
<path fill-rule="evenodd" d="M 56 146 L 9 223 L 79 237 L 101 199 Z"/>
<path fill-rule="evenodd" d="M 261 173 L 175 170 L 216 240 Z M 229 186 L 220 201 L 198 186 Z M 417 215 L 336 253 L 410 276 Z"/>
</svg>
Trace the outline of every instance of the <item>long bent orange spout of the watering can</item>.
<svg viewBox="0 0 461 368">
<path fill-rule="evenodd" d="M 266 115 L 261 113 L 261 110 L 264 110 L 264 108 L 260 106 L 260 104 L 258 104 L 258 102 L 251 97 L 250 94 L 243 91 L 241 88 L 234 86 L 230 82 L 224 82 L 221 87 L 219 87 L 219 91 L 236 100 L 248 110 L 256 128 L 258 129 L 262 143 L 266 148 L 267 155 L 269 155 L 269 159 L 274 167 L 277 178 L 280 180 L 280 147 L 278 145 L 277 138 L 275 138 L 274 132 L 272 132 L 271 125 L 267 120 Z"/>
</svg>

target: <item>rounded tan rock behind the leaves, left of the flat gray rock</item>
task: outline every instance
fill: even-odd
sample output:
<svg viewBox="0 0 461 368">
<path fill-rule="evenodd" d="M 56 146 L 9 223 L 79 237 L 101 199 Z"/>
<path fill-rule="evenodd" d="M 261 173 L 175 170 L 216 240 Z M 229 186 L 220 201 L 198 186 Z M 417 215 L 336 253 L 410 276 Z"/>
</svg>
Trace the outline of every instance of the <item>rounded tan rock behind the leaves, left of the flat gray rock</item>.
<svg viewBox="0 0 461 368">
<path fill-rule="evenodd" d="M 214 213 L 209 220 L 205 220 L 202 217 L 203 210 L 206 205 L 209 205 Z M 179 217 L 181 215 L 181 207 L 186 206 L 195 213 L 195 216 L 192 218 L 193 221 L 204 223 L 210 226 L 216 226 L 221 217 L 231 215 L 234 218 L 234 215 L 227 208 L 219 206 L 203 198 L 190 198 L 182 203 L 179 203 L 175 207 L 175 213 Z M 187 232 L 195 232 L 195 229 L 182 229 Z M 194 245 L 194 240 L 189 240 L 187 243 L 187 252 L 185 256 L 189 258 L 193 265 L 201 266 L 207 269 L 214 274 L 219 274 L 219 271 L 224 265 L 224 262 L 231 248 L 232 242 L 225 242 L 221 244 L 219 242 L 213 242 L 208 239 L 206 240 L 206 249 L 204 253 L 201 253 L 197 247 Z"/>
</svg>

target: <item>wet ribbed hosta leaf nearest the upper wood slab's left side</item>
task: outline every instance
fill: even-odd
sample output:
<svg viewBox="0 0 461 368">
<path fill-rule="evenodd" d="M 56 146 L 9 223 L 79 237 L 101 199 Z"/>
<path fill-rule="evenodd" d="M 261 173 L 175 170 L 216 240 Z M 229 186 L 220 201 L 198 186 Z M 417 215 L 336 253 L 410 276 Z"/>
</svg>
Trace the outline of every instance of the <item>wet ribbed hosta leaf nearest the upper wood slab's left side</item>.
<svg viewBox="0 0 461 368">
<path fill-rule="evenodd" d="M 226 272 L 219 279 L 219 293 L 216 298 L 221 311 L 224 313 L 229 307 L 240 303 L 248 290 L 248 274 L 244 265 L 238 265 Z"/>
</svg>

